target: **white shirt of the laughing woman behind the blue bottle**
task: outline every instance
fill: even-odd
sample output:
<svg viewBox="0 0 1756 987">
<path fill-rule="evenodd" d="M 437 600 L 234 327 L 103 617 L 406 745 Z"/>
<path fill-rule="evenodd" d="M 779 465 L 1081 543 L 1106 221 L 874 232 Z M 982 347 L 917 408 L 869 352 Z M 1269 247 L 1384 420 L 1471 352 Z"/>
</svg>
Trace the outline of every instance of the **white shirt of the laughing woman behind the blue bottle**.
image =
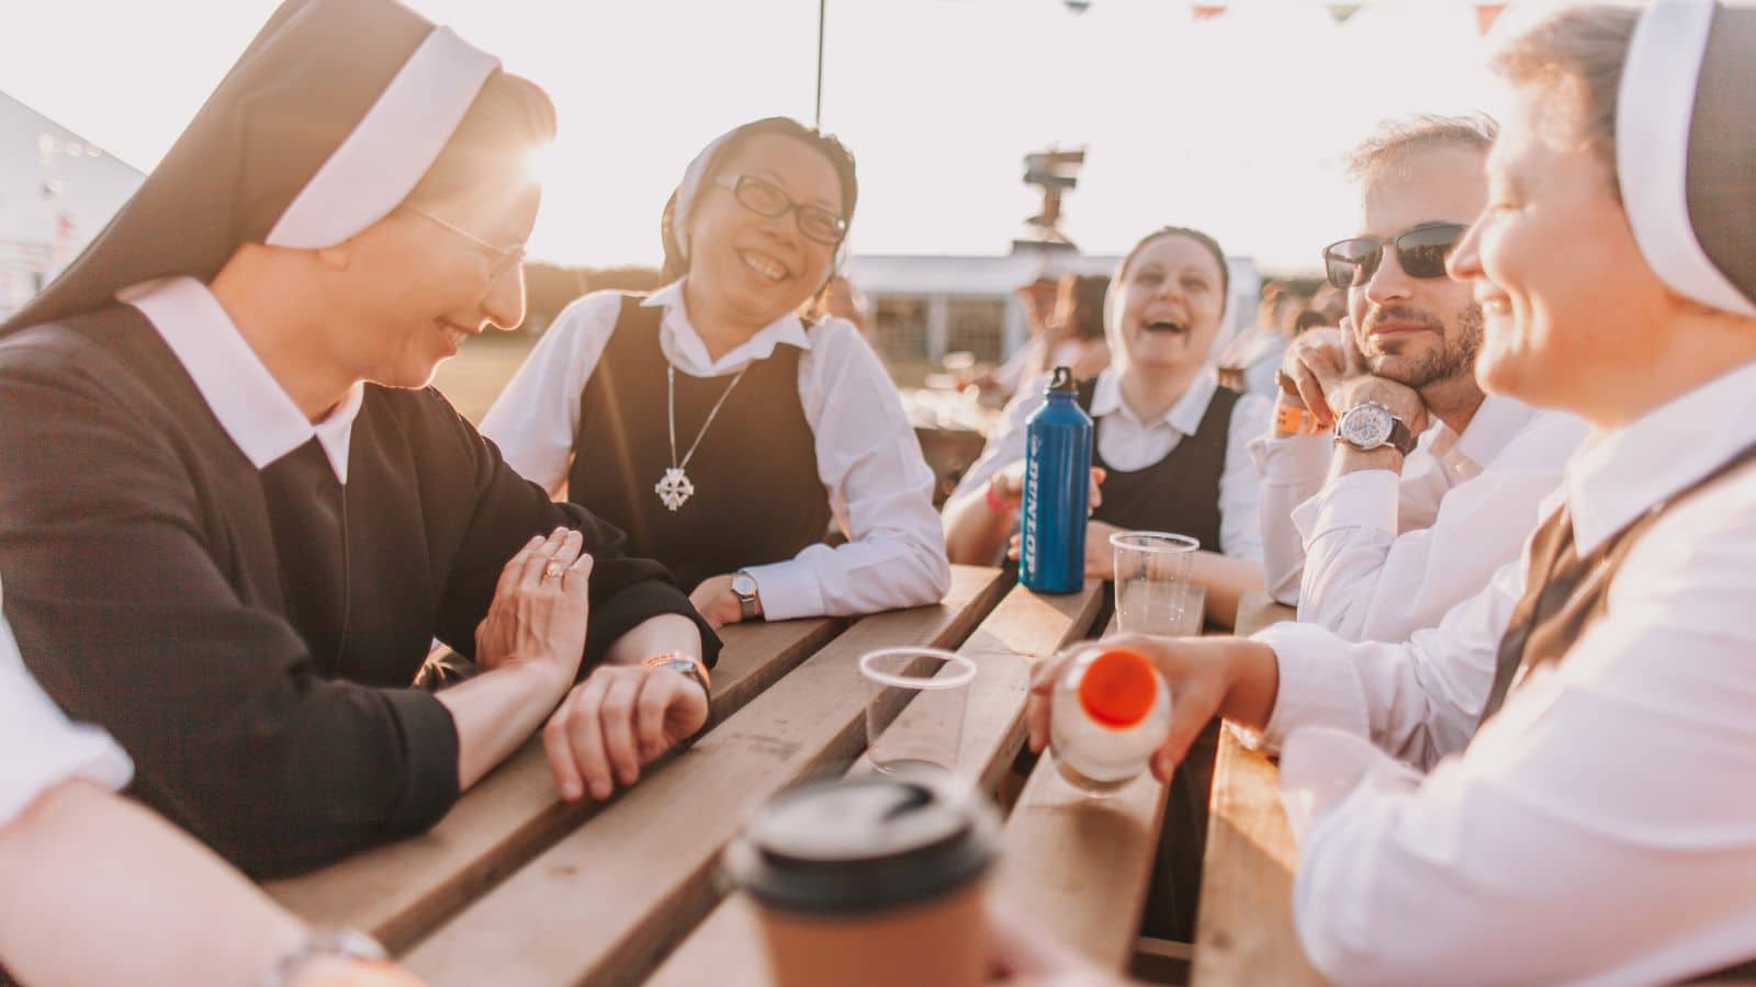
<svg viewBox="0 0 1756 987">
<path fill-rule="evenodd" d="M 982 450 L 969 472 L 957 485 L 954 497 L 971 490 L 980 490 L 997 471 L 1024 460 L 1026 421 L 1047 400 L 1040 378 L 1026 393 L 1006 406 L 999 425 L 989 436 L 987 448 Z M 1147 469 L 1148 465 L 1171 455 L 1171 450 L 1194 436 L 1201 427 L 1213 392 L 1219 390 L 1219 378 L 1203 372 L 1189 385 L 1184 397 L 1169 411 L 1141 421 L 1134 409 L 1122 400 L 1122 388 L 1117 383 L 1115 369 L 1098 374 L 1098 386 L 1092 392 L 1092 418 L 1098 420 L 1098 451 L 1103 460 L 1120 471 Z M 1226 430 L 1226 467 L 1219 478 L 1219 551 L 1233 558 L 1263 558 L 1261 520 L 1257 513 L 1256 464 L 1250 462 L 1250 439 L 1268 429 L 1273 406 L 1257 395 L 1238 399 L 1231 413 L 1231 429 Z M 1215 548 L 1203 544 L 1201 548 Z"/>
</svg>

